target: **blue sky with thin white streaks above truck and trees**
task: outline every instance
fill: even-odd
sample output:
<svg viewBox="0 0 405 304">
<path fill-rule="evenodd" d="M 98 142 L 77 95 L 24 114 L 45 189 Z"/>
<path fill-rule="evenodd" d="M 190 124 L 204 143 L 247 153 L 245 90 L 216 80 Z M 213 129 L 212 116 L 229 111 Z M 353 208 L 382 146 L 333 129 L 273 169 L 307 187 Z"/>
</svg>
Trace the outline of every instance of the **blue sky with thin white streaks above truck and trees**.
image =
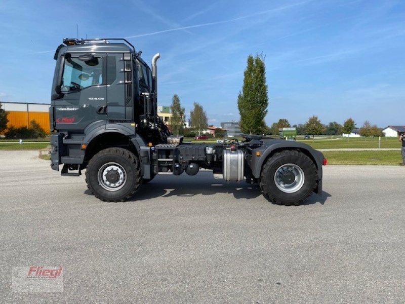
<svg viewBox="0 0 405 304">
<path fill-rule="evenodd" d="M 63 37 L 128 37 L 159 52 L 160 105 L 194 101 L 238 120 L 249 54 L 265 54 L 266 123 L 352 117 L 405 125 L 405 2 L 373 0 L 0 2 L 0 100 L 50 102 Z"/>
</svg>

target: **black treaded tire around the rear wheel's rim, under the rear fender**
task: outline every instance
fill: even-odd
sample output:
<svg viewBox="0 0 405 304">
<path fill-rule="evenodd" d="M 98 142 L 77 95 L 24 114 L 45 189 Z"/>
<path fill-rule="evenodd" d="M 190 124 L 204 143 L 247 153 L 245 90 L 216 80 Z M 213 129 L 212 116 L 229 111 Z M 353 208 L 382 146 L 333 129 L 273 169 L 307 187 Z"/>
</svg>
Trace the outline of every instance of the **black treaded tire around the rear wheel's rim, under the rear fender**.
<svg viewBox="0 0 405 304">
<path fill-rule="evenodd" d="M 284 164 L 295 164 L 304 173 L 304 183 L 296 192 L 281 191 L 274 181 L 278 168 Z M 301 205 L 312 194 L 316 187 L 317 170 L 313 161 L 298 150 L 283 150 L 271 156 L 262 167 L 260 188 L 263 196 L 277 205 Z"/>
</svg>

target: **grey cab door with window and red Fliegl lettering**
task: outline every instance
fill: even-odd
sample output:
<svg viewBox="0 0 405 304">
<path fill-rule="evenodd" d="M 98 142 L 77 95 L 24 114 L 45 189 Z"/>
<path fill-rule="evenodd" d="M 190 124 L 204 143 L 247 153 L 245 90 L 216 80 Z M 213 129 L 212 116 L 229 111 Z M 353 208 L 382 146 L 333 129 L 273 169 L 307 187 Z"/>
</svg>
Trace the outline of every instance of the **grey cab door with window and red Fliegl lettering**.
<svg viewBox="0 0 405 304">
<path fill-rule="evenodd" d="M 57 130 L 84 130 L 107 117 L 106 54 L 66 54 L 61 93 L 55 100 Z"/>
</svg>

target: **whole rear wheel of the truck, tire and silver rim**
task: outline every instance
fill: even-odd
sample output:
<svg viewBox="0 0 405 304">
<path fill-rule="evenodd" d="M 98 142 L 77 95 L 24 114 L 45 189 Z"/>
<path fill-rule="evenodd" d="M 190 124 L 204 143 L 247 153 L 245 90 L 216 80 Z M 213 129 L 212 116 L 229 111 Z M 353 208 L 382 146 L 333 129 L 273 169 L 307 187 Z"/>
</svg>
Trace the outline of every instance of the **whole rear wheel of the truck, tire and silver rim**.
<svg viewBox="0 0 405 304">
<path fill-rule="evenodd" d="M 317 171 L 312 160 L 297 150 L 284 150 L 271 156 L 262 168 L 263 196 L 277 205 L 300 205 L 312 194 Z"/>
</svg>

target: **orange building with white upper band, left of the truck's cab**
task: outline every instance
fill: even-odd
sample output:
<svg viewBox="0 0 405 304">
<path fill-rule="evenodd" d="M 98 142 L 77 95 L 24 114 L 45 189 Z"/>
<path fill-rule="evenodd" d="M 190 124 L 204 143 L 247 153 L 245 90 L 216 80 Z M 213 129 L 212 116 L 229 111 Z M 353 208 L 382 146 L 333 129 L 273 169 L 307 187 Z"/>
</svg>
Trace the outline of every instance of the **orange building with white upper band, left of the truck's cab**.
<svg viewBox="0 0 405 304">
<path fill-rule="evenodd" d="M 45 132 L 49 133 L 49 104 L 48 103 L 22 103 L 0 102 L 2 108 L 8 113 L 9 123 L 7 127 L 29 127 L 29 123 L 35 120 Z"/>
</svg>

